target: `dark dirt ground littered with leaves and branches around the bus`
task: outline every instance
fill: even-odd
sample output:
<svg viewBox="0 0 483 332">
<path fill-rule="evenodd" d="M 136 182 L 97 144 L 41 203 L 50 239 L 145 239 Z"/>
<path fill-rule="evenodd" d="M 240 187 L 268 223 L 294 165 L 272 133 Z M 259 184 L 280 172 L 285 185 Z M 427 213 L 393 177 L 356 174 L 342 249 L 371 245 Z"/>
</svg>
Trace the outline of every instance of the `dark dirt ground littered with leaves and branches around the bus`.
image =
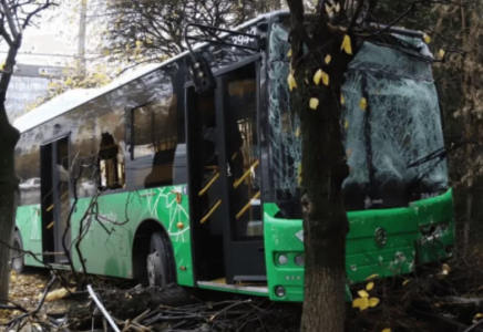
<svg viewBox="0 0 483 332">
<path fill-rule="evenodd" d="M 475 255 L 476 257 L 483 257 L 483 246 L 474 248 L 472 253 L 477 253 Z M 474 258 L 475 256 L 472 256 L 472 259 L 455 257 L 448 263 L 451 269 L 445 274 L 441 273 L 442 267 L 432 267 L 428 268 L 428 271 L 419 273 L 419 276 L 400 276 L 386 280 L 374 280 L 373 284 L 372 282 L 367 282 L 367 284 L 352 287 L 352 295 L 356 298 L 358 298 L 359 291 L 366 289 L 369 295 L 377 298 L 380 303 L 363 311 L 352 308 L 352 303 L 348 303 L 346 331 L 461 332 L 470 328 L 471 330 L 467 331 L 483 331 L 483 329 L 480 330 L 480 325 L 472 328 L 472 324 L 480 322 L 483 318 L 483 301 L 481 301 L 483 299 L 483 287 L 481 286 L 483 283 L 483 269 L 481 269 L 480 261 Z M 10 300 L 28 311 L 34 310 L 49 279 L 50 276 L 47 270 L 32 270 L 21 276 L 12 272 Z M 132 284 L 124 284 L 125 281 L 122 280 L 107 280 L 102 277 L 91 278 L 90 283 L 93 284 L 94 289 L 103 290 L 132 289 L 133 287 Z M 369 283 L 371 283 L 370 287 Z M 52 290 L 59 287 L 60 284 L 54 284 Z M 90 301 L 85 291 L 80 293 L 80 295 L 45 302 L 37 317 L 47 321 L 45 313 L 66 313 L 71 309 L 84 307 Z M 106 301 L 107 298 L 104 297 L 103 301 Z M 223 309 L 223 307 L 220 309 L 220 312 L 225 312 L 233 307 L 229 303 L 247 301 L 247 298 L 236 299 L 233 294 L 220 292 L 197 293 L 196 298 L 198 299 L 198 304 L 196 305 L 201 308 L 199 312 L 196 312 L 197 318 L 201 318 L 203 314 L 207 314 L 207 318 L 209 318 L 213 314 L 212 309 L 216 303 L 228 303 L 225 304 L 227 305 L 226 309 Z M 455 299 L 460 300 L 454 302 Z M 292 303 L 268 303 L 269 305 L 266 305 L 267 303 L 256 302 L 257 299 L 253 300 L 253 303 L 256 304 L 255 307 L 250 304 L 251 307 L 248 308 L 248 311 L 242 311 L 242 307 L 237 307 L 236 312 L 233 312 L 230 317 L 223 318 L 223 323 L 229 323 L 229 320 L 234 319 L 239 324 L 240 318 L 253 312 L 250 308 L 257 308 L 259 312 L 264 313 L 264 319 L 259 319 L 259 323 L 256 325 L 251 324 L 248 326 L 249 329 L 239 330 L 235 325 L 235 328 L 232 326 L 233 329 L 224 328 L 213 331 L 279 332 L 298 330 L 301 313 L 300 305 L 294 307 Z M 474 300 L 477 301 L 475 302 Z M 169 315 L 171 320 L 177 319 L 182 321 L 184 318 L 179 318 L 179 314 L 193 317 L 193 305 L 172 308 L 174 311 L 164 310 L 158 314 Z M 266 314 L 267 312 L 269 314 Z M 152 314 L 156 312 L 153 311 Z M 9 322 L 21 314 L 20 311 L 0 310 L 0 323 Z M 117 315 L 117 318 L 122 321 L 131 319 L 122 315 Z M 212 322 L 210 319 L 206 321 Z M 201 328 L 203 326 L 202 324 Z M 481 326 L 483 326 L 483 323 Z M 172 328 L 169 325 L 168 330 L 182 331 Z M 162 330 L 165 329 L 153 331 Z"/>
</svg>

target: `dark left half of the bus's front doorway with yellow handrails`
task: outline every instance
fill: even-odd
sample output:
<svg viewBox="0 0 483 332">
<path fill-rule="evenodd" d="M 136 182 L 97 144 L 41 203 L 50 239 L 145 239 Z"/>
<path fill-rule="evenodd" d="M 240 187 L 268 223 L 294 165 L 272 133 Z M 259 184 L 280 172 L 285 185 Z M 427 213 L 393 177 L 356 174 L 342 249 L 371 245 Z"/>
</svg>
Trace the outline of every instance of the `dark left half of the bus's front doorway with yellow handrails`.
<svg viewBox="0 0 483 332">
<path fill-rule="evenodd" d="M 193 264 L 197 280 L 225 277 L 223 230 L 226 216 L 218 164 L 215 93 L 186 90 L 186 143 Z"/>
</svg>

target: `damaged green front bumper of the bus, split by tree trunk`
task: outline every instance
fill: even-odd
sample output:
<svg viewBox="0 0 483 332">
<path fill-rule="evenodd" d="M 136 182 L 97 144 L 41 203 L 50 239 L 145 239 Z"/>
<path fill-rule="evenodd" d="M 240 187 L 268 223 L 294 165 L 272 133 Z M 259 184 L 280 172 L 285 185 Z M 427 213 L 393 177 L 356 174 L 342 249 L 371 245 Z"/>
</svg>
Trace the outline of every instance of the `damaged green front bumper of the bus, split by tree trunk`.
<svg viewBox="0 0 483 332">
<path fill-rule="evenodd" d="M 264 205 L 265 252 L 269 298 L 275 301 L 304 300 L 304 267 L 295 258 L 304 253 L 302 221 L 276 218 L 278 207 Z M 347 237 L 348 283 L 364 281 L 369 276 L 391 277 L 413 271 L 415 263 L 434 261 L 448 256 L 454 243 L 452 190 L 423 199 L 407 208 L 348 212 L 350 231 Z M 376 241 L 377 229 L 387 235 L 384 245 Z M 278 263 L 285 255 L 288 262 Z M 285 297 L 275 289 L 282 286 Z"/>
</svg>

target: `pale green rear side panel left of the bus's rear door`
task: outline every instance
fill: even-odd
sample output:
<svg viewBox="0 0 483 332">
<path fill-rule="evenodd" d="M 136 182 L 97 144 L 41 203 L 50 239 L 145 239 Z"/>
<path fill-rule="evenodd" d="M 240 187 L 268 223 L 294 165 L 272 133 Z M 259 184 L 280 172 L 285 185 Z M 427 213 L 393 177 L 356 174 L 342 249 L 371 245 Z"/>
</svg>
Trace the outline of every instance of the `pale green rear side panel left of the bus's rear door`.
<svg viewBox="0 0 483 332">
<path fill-rule="evenodd" d="M 40 205 L 21 206 L 17 209 L 16 225 L 20 231 L 23 249 L 33 253 L 42 252 L 42 225 Z M 38 257 L 42 259 L 41 256 Z M 25 255 L 25 263 L 42 267 L 31 255 Z"/>
</svg>

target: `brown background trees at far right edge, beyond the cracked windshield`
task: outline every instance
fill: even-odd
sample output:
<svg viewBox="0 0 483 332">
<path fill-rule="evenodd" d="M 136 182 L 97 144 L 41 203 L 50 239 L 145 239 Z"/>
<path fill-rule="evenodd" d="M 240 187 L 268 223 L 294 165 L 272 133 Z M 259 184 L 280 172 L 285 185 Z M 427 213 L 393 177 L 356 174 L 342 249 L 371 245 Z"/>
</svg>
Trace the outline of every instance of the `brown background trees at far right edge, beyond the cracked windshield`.
<svg viewBox="0 0 483 332">
<path fill-rule="evenodd" d="M 464 59 L 452 54 L 435 66 L 444 116 L 448 145 L 467 143 L 450 154 L 450 176 L 455 188 L 455 210 L 462 236 L 463 251 L 473 243 L 481 243 L 483 225 L 473 222 L 483 217 L 479 204 L 483 194 L 483 2 L 463 0 L 460 7 L 436 6 L 435 46 L 449 50 L 459 48 L 466 52 Z M 451 35 L 451 38 L 448 38 Z"/>
</svg>

